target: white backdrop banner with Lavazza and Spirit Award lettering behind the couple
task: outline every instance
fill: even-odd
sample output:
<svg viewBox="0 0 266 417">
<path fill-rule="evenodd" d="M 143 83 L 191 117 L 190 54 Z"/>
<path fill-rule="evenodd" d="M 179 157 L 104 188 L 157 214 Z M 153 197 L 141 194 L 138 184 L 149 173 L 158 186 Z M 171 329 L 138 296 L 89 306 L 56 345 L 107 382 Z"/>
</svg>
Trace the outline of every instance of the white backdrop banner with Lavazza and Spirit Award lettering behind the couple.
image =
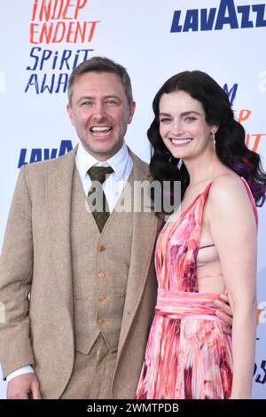
<svg viewBox="0 0 266 417">
<path fill-rule="evenodd" d="M 145 161 L 155 92 L 170 75 L 200 69 L 227 91 L 265 167 L 265 9 L 262 0 L 0 0 L 0 246 L 20 167 L 77 143 L 66 84 L 92 56 L 129 70 L 137 111 L 126 141 Z M 266 398 L 265 214 L 259 209 L 254 398 Z M 0 382 L 0 397 L 5 389 Z"/>
</svg>

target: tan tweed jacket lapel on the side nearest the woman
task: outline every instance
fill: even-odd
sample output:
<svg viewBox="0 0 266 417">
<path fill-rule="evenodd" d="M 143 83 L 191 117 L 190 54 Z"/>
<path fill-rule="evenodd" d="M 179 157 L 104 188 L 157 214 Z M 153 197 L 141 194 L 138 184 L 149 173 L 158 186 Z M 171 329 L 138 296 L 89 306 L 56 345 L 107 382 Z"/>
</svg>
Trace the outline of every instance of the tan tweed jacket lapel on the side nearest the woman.
<svg viewBox="0 0 266 417">
<path fill-rule="evenodd" d="M 143 181 L 144 179 L 147 179 L 147 172 L 144 172 L 143 165 L 134 154 L 130 154 L 133 159 L 134 181 Z M 137 196 L 134 195 L 134 199 L 136 198 Z M 120 356 L 122 347 L 129 333 L 129 328 L 144 292 L 149 267 L 151 261 L 153 261 L 153 248 L 157 237 L 157 230 L 158 219 L 152 212 L 133 213 L 129 277 L 124 314 L 121 323 L 118 357 Z"/>
</svg>

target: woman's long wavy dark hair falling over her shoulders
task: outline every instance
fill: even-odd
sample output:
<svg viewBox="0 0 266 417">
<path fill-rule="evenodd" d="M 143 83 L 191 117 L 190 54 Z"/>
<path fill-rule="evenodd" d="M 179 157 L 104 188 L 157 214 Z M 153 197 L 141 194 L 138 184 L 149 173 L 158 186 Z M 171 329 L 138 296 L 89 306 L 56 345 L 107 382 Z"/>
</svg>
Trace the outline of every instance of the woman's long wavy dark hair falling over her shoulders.
<svg viewBox="0 0 266 417">
<path fill-rule="evenodd" d="M 172 76 L 162 85 L 153 99 L 154 119 L 147 132 L 153 146 L 150 170 L 154 179 L 160 181 L 181 181 L 181 198 L 189 185 L 190 179 L 184 164 L 177 168 L 178 159 L 164 145 L 159 131 L 159 104 L 162 94 L 176 90 L 187 92 L 200 101 L 206 114 L 206 122 L 219 126 L 215 134 L 215 152 L 219 160 L 246 179 L 254 201 L 261 207 L 265 201 L 266 174 L 262 170 L 261 158 L 246 147 L 245 130 L 236 120 L 225 91 L 206 73 L 201 71 L 184 71 Z"/>
</svg>

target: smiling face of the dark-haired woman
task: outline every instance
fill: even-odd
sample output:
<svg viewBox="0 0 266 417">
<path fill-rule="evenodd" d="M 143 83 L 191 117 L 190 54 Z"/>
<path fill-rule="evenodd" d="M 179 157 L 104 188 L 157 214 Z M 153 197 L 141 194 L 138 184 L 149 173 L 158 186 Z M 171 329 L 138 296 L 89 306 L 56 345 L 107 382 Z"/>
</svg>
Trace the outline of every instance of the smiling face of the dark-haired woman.
<svg viewBox="0 0 266 417">
<path fill-rule="evenodd" d="M 200 101 L 183 90 L 163 94 L 159 103 L 160 137 L 175 158 L 194 159 L 213 152 L 212 131 Z"/>
</svg>

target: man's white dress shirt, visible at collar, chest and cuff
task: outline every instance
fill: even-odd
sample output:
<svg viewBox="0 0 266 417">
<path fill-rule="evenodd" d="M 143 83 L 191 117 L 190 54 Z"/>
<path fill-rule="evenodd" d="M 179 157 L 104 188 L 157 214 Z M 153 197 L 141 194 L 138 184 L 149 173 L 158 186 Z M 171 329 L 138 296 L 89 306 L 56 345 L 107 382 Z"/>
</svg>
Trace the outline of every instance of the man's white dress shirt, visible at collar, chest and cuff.
<svg viewBox="0 0 266 417">
<path fill-rule="evenodd" d="M 93 167 L 112 167 L 113 173 L 110 174 L 103 184 L 103 189 L 106 194 L 106 200 L 108 202 L 110 213 L 113 211 L 115 204 L 121 196 L 121 192 L 124 185 L 129 179 L 130 172 L 133 168 L 133 161 L 129 155 L 129 150 L 125 143 L 121 146 L 121 149 L 115 153 L 106 162 L 100 162 L 85 151 L 82 143 L 79 144 L 77 153 L 75 155 L 75 166 L 78 170 L 79 176 L 82 182 L 82 188 L 85 196 L 88 195 L 91 185 L 90 176 L 87 171 Z M 16 369 L 11 374 L 6 376 L 6 381 L 10 382 L 15 376 L 22 374 L 34 373 L 34 368 L 30 365 L 22 366 Z"/>
</svg>

